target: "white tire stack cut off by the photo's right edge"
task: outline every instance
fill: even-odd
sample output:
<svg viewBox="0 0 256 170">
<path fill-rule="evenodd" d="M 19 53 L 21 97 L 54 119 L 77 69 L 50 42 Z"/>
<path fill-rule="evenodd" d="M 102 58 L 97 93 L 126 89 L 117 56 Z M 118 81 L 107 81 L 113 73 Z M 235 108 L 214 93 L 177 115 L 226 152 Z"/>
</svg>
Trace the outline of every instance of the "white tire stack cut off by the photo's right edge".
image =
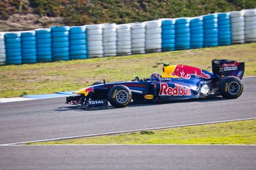
<svg viewBox="0 0 256 170">
<path fill-rule="evenodd" d="M 245 12 L 245 42 L 256 42 L 256 9 Z"/>
</svg>

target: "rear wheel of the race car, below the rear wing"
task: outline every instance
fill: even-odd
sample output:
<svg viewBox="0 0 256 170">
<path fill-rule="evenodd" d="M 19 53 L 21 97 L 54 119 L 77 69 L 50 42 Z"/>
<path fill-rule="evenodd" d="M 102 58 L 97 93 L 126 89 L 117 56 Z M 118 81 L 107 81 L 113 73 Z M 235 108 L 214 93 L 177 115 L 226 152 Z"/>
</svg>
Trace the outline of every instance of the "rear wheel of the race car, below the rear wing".
<svg viewBox="0 0 256 170">
<path fill-rule="evenodd" d="M 237 77 L 228 76 L 220 81 L 219 91 L 226 99 L 236 99 L 243 93 L 243 83 Z"/>
</svg>

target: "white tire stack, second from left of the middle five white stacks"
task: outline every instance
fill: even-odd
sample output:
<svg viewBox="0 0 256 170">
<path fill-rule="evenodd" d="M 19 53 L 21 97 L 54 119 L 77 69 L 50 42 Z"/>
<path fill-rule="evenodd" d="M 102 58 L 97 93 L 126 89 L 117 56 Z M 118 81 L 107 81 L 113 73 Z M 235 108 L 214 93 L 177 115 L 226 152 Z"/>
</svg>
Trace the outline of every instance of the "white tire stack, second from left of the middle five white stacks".
<svg viewBox="0 0 256 170">
<path fill-rule="evenodd" d="M 102 24 L 103 56 L 117 56 L 117 24 Z"/>
</svg>

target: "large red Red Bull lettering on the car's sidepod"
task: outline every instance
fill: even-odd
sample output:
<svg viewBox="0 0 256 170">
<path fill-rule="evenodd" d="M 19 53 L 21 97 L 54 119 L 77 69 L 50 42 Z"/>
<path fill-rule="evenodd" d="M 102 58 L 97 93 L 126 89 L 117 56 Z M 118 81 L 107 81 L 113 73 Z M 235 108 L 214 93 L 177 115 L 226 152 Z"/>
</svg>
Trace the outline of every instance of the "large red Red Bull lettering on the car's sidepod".
<svg viewBox="0 0 256 170">
<path fill-rule="evenodd" d="M 191 90 L 182 85 L 175 84 L 175 87 L 168 87 L 166 83 L 160 84 L 159 95 L 191 95 Z"/>
</svg>

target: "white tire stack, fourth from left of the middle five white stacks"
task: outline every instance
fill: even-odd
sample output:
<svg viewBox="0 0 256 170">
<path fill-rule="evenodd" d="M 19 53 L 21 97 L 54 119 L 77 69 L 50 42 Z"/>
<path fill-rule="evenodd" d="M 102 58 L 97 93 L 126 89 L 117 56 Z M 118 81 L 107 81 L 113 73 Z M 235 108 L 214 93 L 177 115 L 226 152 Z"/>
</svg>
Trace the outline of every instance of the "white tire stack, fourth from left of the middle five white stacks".
<svg viewBox="0 0 256 170">
<path fill-rule="evenodd" d="M 146 24 L 137 22 L 131 24 L 131 54 L 145 54 Z"/>
</svg>

